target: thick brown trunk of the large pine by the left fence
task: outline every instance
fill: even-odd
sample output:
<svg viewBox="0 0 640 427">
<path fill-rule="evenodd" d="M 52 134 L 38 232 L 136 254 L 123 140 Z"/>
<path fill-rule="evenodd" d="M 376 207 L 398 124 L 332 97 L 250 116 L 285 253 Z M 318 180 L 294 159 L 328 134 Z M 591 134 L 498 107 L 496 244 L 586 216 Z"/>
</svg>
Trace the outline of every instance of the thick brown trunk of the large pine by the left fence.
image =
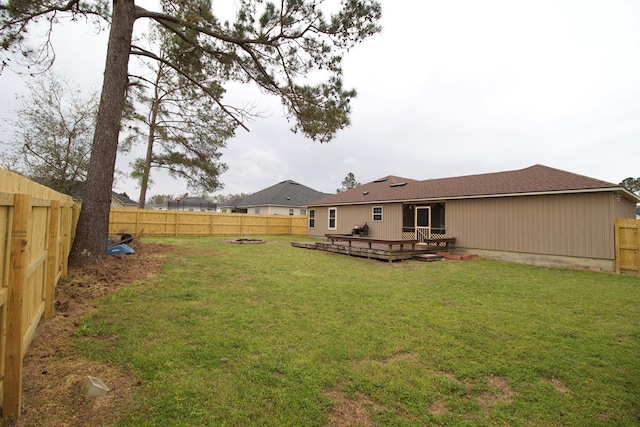
<svg viewBox="0 0 640 427">
<path fill-rule="evenodd" d="M 134 0 L 113 0 L 109 46 L 91 161 L 70 254 L 70 262 L 76 265 L 98 262 L 106 257 L 111 187 L 118 151 L 120 119 L 128 84 L 127 71 L 135 12 Z"/>
</svg>

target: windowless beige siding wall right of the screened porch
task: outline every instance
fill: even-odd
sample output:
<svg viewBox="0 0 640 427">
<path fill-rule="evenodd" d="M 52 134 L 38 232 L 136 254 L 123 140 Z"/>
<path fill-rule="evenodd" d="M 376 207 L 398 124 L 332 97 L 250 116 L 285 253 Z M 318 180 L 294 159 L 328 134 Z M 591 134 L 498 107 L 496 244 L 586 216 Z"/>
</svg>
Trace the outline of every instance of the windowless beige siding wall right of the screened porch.
<svg viewBox="0 0 640 427">
<path fill-rule="evenodd" d="M 611 193 L 450 200 L 447 235 L 467 249 L 613 259 Z"/>
</svg>

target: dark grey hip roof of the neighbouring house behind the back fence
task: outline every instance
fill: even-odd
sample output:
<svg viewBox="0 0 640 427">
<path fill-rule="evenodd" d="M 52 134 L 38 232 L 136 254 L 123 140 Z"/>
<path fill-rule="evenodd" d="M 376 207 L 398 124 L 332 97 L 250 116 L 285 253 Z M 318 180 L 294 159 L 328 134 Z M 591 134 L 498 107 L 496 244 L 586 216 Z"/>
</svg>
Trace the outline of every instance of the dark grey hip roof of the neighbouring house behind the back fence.
<svg viewBox="0 0 640 427">
<path fill-rule="evenodd" d="M 253 193 L 243 199 L 236 200 L 238 208 L 253 206 L 306 206 L 310 201 L 327 196 L 295 181 L 282 181 L 269 188 Z"/>
</svg>

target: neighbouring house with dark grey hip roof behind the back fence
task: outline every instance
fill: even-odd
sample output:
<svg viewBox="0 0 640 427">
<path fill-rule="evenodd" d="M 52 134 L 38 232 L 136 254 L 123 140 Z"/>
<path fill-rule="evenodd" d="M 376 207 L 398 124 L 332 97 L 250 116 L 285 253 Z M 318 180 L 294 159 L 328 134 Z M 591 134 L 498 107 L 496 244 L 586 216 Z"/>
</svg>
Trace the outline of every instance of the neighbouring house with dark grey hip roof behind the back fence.
<svg viewBox="0 0 640 427">
<path fill-rule="evenodd" d="M 249 214 L 306 215 L 307 203 L 327 195 L 327 193 L 287 180 L 240 200 L 235 200 L 233 209 L 238 213 Z"/>
</svg>

